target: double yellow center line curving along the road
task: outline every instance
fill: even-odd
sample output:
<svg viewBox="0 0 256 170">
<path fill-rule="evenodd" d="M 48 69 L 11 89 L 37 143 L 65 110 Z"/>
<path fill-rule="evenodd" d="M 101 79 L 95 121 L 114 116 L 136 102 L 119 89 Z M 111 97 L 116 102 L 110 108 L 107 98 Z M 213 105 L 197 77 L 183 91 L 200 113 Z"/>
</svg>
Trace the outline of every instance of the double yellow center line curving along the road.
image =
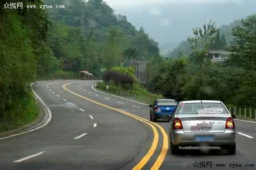
<svg viewBox="0 0 256 170">
<path fill-rule="evenodd" d="M 148 162 L 148 160 L 150 160 L 151 156 L 154 155 L 155 153 L 155 150 L 158 146 L 158 141 L 159 141 L 159 134 L 158 134 L 158 130 L 156 129 L 159 128 L 162 135 L 163 135 L 163 145 L 162 145 L 162 150 L 160 152 L 160 154 L 158 155 L 158 158 L 156 159 L 155 163 L 152 165 L 151 169 L 159 169 L 160 166 L 162 165 L 163 163 L 163 160 L 167 154 L 167 150 L 168 150 L 168 135 L 166 134 L 166 131 L 164 131 L 164 129 L 162 128 L 162 126 L 158 125 L 158 124 L 155 124 L 154 122 L 150 122 L 142 117 L 139 117 L 139 116 L 136 116 L 135 114 L 131 114 L 129 112 L 126 112 L 126 111 L 122 111 L 121 109 L 117 109 L 117 108 L 113 108 L 113 107 L 110 107 L 109 105 L 105 105 L 105 104 L 102 104 L 102 103 L 99 103 L 98 101 L 94 101 L 92 99 L 89 99 L 85 96 L 82 96 L 80 94 L 77 94 L 71 90 L 69 90 L 66 86 L 68 84 L 72 84 L 72 83 L 78 83 L 78 82 L 71 82 L 71 83 L 65 83 L 62 87 L 65 91 L 68 91 L 69 93 L 73 94 L 73 95 L 76 95 L 78 97 L 80 97 L 81 99 L 84 99 L 84 100 L 87 100 L 87 101 L 90 101 L 94 104 L 97 104 L 97 105 L 100 105 L 101 107 L 104 107 L 104 108 L 108 108 L 112 111 L 117 111 L 119 113 L 122 113 L 122 114 L 125 114 L 126 116 L 129 116 L 131 118 L 134 118 L 135 120 L 138 120 L 138 121 L 141 121 L 143 122 L 144 124 L 150 126 L 153 130 L 153 133 L 154 133 L 154 139 L 152 141 L 152 145 L 150 147 L 150 150 L 148 150 L 147 154 L 144 155 L 144 157 L 141 159 L 141 161 L 135 165 L 135 167 L 133 167 L 133 169 L 142 169 L 144 167 L 144 165 Z"/>
</svg>

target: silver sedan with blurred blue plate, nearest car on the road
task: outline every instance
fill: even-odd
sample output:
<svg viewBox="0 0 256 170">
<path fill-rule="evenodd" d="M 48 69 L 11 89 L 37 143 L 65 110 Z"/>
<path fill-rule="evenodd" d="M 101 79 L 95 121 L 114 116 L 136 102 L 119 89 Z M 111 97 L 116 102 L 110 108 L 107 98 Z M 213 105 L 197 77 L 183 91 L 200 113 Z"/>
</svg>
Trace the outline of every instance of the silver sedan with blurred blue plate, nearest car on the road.
<svg viewBox="0 0 256 170">
<path fill-rule="evenodd" d="M 218 146 L 236 154 L 235 116 L 224 103 L 214 100 L 180 101 L 170 121 L 170 149 L 179 146 Z"/>
</svg>

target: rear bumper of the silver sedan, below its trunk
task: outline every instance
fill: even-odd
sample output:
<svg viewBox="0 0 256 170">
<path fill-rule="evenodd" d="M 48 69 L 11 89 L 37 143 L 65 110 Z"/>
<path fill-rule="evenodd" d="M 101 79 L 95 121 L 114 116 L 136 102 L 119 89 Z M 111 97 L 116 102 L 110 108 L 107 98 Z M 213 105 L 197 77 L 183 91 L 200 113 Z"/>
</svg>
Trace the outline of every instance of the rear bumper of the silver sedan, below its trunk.
<svg viewBox="0 0 256 170">
<path fill-rule="evenodd" d="M 212 137 L 210 141 L 198 141 L 197 137 Z M 236 130 L 225 130 L 222 133 L 184 133 L 183 130 L 174 130 L 170 133 L 173 145 L 179 146 L 201 146 L 207 143 L 209 146 L 234 145 L 236 143 Z"/>
</svg>

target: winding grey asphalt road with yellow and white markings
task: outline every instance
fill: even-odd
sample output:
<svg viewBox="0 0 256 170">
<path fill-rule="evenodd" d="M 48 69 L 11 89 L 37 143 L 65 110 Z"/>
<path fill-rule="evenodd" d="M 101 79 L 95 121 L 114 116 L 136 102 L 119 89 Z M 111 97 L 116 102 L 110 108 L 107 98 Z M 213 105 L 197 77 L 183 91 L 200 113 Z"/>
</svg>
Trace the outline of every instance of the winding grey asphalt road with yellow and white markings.
<svg viewBox="0 0 256 170">
<path fill-rule="evenodd" d="M 35 84 L 52 120 L 42 129 L 1 140 L 0 169 L 228 169 L 230 164 L 230 169 L 256 169 L 255 122 L 236 120 L 236 155 L 218 149 L 171 155 L 168 122 L 150 123 L 147 105 L 95 91 L 93 84 Z"/>
</svg>

